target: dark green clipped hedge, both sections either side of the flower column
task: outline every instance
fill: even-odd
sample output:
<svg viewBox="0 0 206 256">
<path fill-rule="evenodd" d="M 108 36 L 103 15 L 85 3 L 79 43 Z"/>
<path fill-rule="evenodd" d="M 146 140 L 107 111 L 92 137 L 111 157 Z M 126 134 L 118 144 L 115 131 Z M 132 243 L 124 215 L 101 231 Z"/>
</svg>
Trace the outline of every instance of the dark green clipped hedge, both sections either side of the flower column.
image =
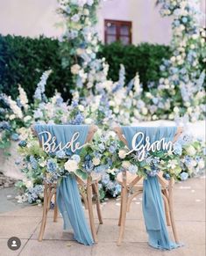
<svg viewBox="0 0 206 256">
<path fill-rule="evenodd" d="M 127 82 L 139 71 L 145 89 L 147 82 L 158 80 L 161 59 L 169 55 L 168 47 L 148 43 L 126 47 L 113 43 L 102 46 L 99 53 L 99 56 L 104 56 L 110 64 L 110 78 L 117 80 L 119 65 L 123 63 Z M 64 99 L 70 99 L 69 91 L 75 84 L 70 70 L 61 66 L 58 40 L 43 36 L 31 39 L 0 35 L 0 92 L 16 97 L 18 84 L 21 84 L 32 100 L 39 77 L 46 69 L 53 69 L 47 81 L 46 95 L 52 96 L 57 89 Z"/>
</svg>

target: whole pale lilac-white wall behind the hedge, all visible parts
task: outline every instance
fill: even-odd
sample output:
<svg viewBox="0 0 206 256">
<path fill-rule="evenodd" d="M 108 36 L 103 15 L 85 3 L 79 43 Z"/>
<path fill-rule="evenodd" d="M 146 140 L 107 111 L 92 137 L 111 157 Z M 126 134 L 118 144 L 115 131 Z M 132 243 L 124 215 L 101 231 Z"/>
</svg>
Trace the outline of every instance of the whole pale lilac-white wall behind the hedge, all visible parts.
<svg viewBox="0 0 206 256">
<path fill-rule="evenodd" d="M 132 42 L 168 44 L 171 39 L 171 18 L 161 18 L 155 0 L 107 0 L 98 11 L 98 31 L 103 40 L 103 19 L 132 21 Z M 0 33 L 36 37 L 45 34 L 58 37 L 62 33 L 55 24 L 57 0 L 0 0 Z M 202 0 L 202 10 L 205 2 Z"/>
</svg>

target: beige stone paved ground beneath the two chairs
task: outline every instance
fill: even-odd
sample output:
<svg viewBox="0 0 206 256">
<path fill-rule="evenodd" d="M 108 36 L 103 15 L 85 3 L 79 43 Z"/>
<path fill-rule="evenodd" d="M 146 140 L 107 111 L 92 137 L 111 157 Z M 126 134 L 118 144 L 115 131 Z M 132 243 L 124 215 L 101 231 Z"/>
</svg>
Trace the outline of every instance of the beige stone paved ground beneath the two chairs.
<svg viewBox="0 0 206 256">
<path fill-rule="evenodd" d="M 53 223 L 53 211 L 49 213 L 44 240 L 37 241 L 42 208 L 18 206 L 8 194 L 11 189 L 0 190 L 0 255 L 20 256 L 204 256 L 205 255 L 205 177 L 188 179 L 176 184 L 174 193 L 176 224 L 184 247 L 171 252 L 159 251 L 147 245 L 146 229 L 143 222 L 141 197 L 132 201 L 131 212 L 127 215 L 124 242 L 117 246 L 117 217 L 119 200 L 103 203 L 103 225 L 98 225 L 99 243 L 84 246 L 75 243 L 72 234 L 62 232 L 62 219 Z M 171 232 L 171 230 L 170 230 Z M 21 239 L 22 245 L 13 252 L 7 247 L 12 236 Z"/>
</svg>

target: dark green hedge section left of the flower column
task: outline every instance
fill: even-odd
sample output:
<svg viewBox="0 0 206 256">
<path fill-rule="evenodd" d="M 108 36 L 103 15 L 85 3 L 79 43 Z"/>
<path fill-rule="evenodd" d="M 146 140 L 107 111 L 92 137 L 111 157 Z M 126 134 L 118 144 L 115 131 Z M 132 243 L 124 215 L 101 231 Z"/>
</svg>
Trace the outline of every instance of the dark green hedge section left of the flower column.
<svg viewBox="0 0 206 256">
<path fill-rule="evenodd" d="M 70 98 L 72 76 L 70 70 L 61 68 L 59 50 L 58 40 L 0 35 L 0 92 L 16 97 L 21 84 L 32 100 L 42 73 L 53 69 L 47 80 L 46 95 L 52 96 L 57 89 L 64 98 Z"/>
</svg>

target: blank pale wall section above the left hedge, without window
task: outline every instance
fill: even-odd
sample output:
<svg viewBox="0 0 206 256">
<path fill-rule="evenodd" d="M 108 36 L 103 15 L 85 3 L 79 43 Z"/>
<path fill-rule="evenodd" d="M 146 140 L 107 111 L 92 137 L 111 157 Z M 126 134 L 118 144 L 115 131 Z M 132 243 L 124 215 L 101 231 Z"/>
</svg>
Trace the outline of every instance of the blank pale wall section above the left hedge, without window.
<svg viewBox="0 0 206 256">
<path fill-rule="evenodd" d="M 55 26 L 57 7 L 57 0 L 0 0 L 0 33 L 57 37 L 62 33 Z"/>
</svg>

